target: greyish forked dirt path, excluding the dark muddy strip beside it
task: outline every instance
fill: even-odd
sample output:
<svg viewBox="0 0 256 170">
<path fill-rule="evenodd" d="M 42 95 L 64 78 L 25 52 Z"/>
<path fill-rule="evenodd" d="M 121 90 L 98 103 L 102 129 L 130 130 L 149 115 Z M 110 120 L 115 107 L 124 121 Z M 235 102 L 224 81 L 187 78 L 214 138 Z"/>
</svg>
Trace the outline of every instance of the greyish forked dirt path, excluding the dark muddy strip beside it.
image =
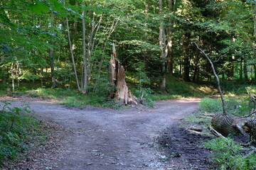
<svg viewBox="0 0 256 170">
<path fill-rule="evenodd" d="M 169 169 L 167 164 L 159 160 L 162 155 L 156 148 L 156 137 L 178 119 L 195 111 L 199 100 L 181 98 L 158 101 L 155 108 L 121 111 L 92 106 L 72 108 L 29 101 L 36 115 L 68 130 L 60 140 L 61 152 L 56 152 L 54 158 L 44 162 L 41 168 Z M 14 106 L 20 105 L 20 101 L 14 102 Z"/>
</svg>

